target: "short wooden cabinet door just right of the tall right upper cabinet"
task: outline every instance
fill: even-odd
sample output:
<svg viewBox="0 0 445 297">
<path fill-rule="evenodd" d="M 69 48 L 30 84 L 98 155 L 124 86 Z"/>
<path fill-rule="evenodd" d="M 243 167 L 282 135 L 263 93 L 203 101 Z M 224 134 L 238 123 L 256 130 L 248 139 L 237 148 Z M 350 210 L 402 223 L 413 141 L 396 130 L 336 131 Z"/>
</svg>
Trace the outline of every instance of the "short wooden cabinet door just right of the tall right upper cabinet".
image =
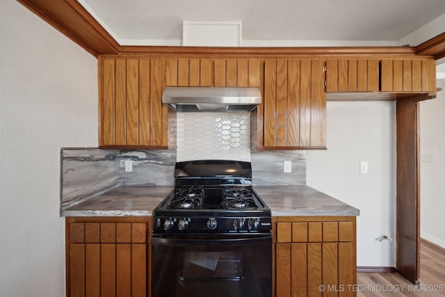
<svg viewBox="0 0 445 297">
<path fill-rule="evenodd" d="M 326 92 L 378 92 L 377 59 L 327 59 Z"/>
</svg>

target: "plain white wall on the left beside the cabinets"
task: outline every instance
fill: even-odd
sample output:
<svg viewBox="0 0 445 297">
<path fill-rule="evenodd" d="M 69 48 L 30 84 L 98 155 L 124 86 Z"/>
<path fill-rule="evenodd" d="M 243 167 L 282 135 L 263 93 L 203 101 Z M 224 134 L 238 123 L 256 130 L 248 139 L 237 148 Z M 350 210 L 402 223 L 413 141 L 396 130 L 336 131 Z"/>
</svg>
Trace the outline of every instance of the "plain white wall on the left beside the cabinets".
<svg viewBox="0 0 445 297">
<path fill-rule="evenodd" d="M 60 147 L 97 146 L 97 61 L 16 1 L 0 6 L 0 296 L 60 297 Z"/>
</svg>

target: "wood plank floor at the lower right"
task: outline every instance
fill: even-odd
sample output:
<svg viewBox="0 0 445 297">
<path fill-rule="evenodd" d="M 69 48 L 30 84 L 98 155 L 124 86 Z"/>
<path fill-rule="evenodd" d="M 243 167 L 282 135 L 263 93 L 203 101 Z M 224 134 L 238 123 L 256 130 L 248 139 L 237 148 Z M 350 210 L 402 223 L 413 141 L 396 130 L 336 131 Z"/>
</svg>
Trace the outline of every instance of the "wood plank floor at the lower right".
<svg viewBox="0 0 445 297">
<path fill-rule="evenodd" d="M 421 239 L 420 279 L 420 287 L 415 287 L 397 273 L 357 273 L 357 297 L 445 296 L 445 250 L 424 239 Z"/>
</svg>

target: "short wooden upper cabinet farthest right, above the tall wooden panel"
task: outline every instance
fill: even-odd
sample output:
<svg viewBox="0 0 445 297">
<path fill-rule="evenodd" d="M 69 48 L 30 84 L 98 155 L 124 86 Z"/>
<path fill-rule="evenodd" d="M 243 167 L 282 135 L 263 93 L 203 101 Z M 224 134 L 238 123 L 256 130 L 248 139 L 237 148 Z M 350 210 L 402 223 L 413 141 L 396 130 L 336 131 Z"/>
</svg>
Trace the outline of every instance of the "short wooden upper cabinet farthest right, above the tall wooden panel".
<svg viewBox="0 0 445 297">
<path fill-rule="evenodd" d="M 433 58 L 387 58 L 381 63 L 382 92 L 436 93 Z"/>
</svg>

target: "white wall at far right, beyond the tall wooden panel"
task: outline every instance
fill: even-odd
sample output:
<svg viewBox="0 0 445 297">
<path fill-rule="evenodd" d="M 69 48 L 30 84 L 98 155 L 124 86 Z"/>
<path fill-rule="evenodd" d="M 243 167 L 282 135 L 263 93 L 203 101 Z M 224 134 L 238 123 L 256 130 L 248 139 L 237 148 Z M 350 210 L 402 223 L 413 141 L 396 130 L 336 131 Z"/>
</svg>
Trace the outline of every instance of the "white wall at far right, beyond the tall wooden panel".
<svg viewBox="0 0 445 297">
<path fill-rule="evenodd" d="M 420 104 L 420 227 L 424 239 L 445 248 L 445 81 L 437 87 L 437 97 Z"/>
</svg>

